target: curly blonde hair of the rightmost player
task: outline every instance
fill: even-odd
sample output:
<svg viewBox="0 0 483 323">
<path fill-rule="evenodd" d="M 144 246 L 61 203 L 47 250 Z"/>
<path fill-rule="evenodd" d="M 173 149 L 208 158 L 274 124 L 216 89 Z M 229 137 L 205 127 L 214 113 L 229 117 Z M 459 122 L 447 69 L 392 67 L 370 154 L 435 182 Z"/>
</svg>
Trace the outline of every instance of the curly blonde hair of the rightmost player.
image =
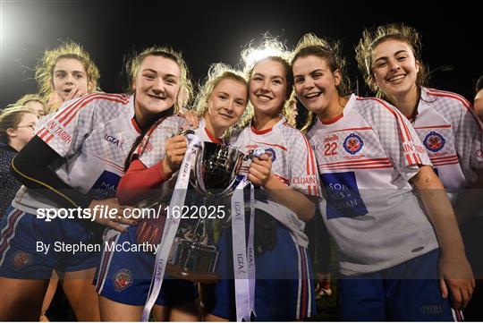
<svg viewBox="0 0 483 323">
<path fill-rule="evenodd" d="M 426 67 L 420 59 L 421 39 L 417 30 L 402 23 L 389 23 L 376 29 L 367 29 L 362 32 L 362 38 L 360 38 L 356 47 L 356 61 L 360 72 L 364 75 L 364 81 L 377 94 L 378 98 L 385 98 L 385 95 L 377 86 L 372 73 L 372 68 L 374 67 L 372 65 L 372 53 L 377 45 L 389 39 L 400 40 L 411 47 L 412 54 L 419 63 L 416 84 L 422 86 L 427 82 Z"/>
</svg>

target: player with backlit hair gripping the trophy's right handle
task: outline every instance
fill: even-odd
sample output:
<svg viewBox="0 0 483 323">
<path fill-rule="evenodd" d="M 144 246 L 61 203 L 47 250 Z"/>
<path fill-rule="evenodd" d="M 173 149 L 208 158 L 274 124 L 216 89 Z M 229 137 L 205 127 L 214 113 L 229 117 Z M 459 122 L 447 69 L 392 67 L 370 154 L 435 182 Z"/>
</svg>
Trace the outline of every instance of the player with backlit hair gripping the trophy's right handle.
<svg viewBox="0 0 483 323">
<path fill-rule="evenodd" d="M 267 38 L 262 47 L 242 55 L 253 113 L 231 142 L 246 154 L 264 151 L 253 158 L 248 170 L 250 182 L 260 187 L 253 237 L 256 282 L 253 296 L 235 290 L 232 228 L 225 229 L 218 242 L 217 265 L 223 279 L 208 300 L 207 320 L 242 319 L 237 304 L 241 298 L 250 298 L 249 310 L 258 320 L 306 319 L 316 311 L 303 227 L 314 214 L 315 206 L 306 194 L 318 194 L 317 170 L 308 140 L 283 115 L 290 109 L 292 94 L 286 54 L 282 44 Z M 250 319 L 250 312 L 242 315 Z"/>
</svg>

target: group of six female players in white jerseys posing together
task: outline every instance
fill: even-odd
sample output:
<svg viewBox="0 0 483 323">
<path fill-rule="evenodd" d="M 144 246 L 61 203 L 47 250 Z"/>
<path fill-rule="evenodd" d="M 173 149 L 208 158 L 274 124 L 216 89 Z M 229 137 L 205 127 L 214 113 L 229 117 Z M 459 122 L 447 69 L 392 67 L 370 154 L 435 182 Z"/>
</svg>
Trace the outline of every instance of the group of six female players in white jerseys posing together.
<svg viewBox="0 0 483 323">
<path fill-rule="evenodd" d="M 307 34 L 288 51 L 266 38 L 242 53 L 242 71 L 212 65 L 196 113 L 184 116 L 193 89 L 170 47 L 131 58 L 128 94 L 98 91 L 97 68 L 79 46 L 47 51 L 36 72 L 47 116 L 13 157 L 23 186 L 0 228 L 0 319 L 38 320 L 53 270 L 77 319 L 141 318 L 156 255 L 40 254 L 36 245 L 97 242 L 99 227 L 107 227 L 105 242 L 159 243 L 164 221 L 123 217 L 123 209 L 173 191 L 188 149 L 178 132 L 193 123 L 200 140 L 245 154 L 262 149 L 244 170 L 258 188 L 256 211 L 247 212 L 246 233 L 229 221 L 221 226 L 221 279 L 211 288 L 165 276 L 156 319 L 313 317 L 305 234 L 313 217 L 323 217 L 340 251 L 341 319 L 462 319 L 475 279 L 459 224 L 475 221 L 480 209 L 482 123 L 466 99 L 425 86 L 419 50 L 411 27 L 365 30 L 356 59 L 377 98 L 361 98 L 350 92 L 335 44 Z M 309 110 L 304 133 L 291 124 L 294 95 Z M 36 217 L 38 208 L 99 206 L 118 217 L 95 225 Z M 232 239 L 244 242 L 245 234 L 256 279 L 242 291 Z"/>
</svg>

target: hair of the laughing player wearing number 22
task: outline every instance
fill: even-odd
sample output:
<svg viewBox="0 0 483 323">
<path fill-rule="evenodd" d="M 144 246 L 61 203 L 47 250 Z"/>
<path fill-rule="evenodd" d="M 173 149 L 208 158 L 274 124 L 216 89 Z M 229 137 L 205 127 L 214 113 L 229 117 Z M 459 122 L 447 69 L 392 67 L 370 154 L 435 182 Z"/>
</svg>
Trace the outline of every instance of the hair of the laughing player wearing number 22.
<svg viewBox="0 0 483 323">
<path fill-rule="evenodd" d="M 335 86 L 339 98 L 346 97 L 351 93 L 351 82 L 346 76 L 345 59 L 341 55 L 341 44 L 339 42 L 331 42 L 325 38 L 319 38 L 313 33 L 305 34 L 292 52 L 292 66 L 297 59 L 309 55 L 318 56 L 326 61 L 330 72 L 339 71 L 341 73 L 341 82 Z M 316 119 L 317 115 L 308 111 L 307 120 L 302 125 L 301 132 L 309 131 Z"/>
</svg>

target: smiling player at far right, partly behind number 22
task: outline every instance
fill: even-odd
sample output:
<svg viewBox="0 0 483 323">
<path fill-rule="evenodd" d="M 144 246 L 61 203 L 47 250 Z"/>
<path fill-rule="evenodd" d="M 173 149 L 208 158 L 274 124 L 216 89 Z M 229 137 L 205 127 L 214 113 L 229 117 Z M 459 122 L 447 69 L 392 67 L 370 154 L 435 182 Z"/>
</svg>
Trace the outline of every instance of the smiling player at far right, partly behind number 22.
<svg viewBox="0 0 483 323">
<path fill-rule="evenodd" d="M 365 30 L 356 52 L 369 87 L 412 123 L 458 222 L 469 220 L 470 227 L 481 229 L 480 217 L 472 216 L 482 208 L 477 191 L 483 188 L 483 127 L 470 103 L 455 93 L 423 86 L 426 68 L 420 60 L 419 33 L 411 27 L 387 24 Z M 469 242 L 469 236 L 464 238 Z M 479 246 L 465 246 L 470 258 L 473 253 L 479 258 Z"/>
</svg>

